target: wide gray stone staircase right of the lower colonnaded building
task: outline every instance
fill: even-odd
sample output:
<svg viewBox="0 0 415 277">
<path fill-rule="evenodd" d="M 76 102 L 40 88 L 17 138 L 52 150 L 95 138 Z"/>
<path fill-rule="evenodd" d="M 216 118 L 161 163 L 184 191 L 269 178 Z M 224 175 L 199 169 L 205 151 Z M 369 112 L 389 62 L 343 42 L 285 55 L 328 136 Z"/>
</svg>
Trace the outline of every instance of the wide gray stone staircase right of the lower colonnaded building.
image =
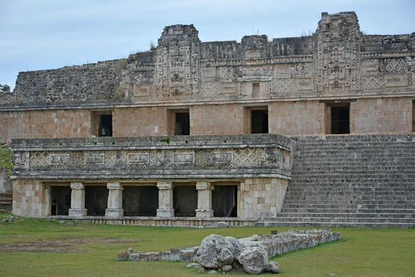
<svg viewBox="0 0 415 277">
<path fill-rule="evenodd" d="M 415 227 L 415 135 L 299 139 L 282 213 L 257 226 Z"/>
</svg>

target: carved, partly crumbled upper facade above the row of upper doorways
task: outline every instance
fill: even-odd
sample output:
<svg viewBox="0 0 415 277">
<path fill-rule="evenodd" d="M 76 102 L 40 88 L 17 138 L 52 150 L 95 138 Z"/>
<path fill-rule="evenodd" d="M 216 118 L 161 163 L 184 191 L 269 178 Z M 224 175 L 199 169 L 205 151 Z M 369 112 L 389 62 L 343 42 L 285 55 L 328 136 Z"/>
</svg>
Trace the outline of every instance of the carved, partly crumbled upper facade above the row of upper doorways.
<svg viewBox="0 0 415 277">
<path fill-rule="evenodd" d="M 266 35 L 245 36 L 241 43 L 201 42 L 198 33 L 193 25 L 167 26 L 154 50 L 127 60 L 21 72 L 15 91 L 3 93 L 0 104 L 107 99 L 177 105 L 414 94 L 415 33 L 363 35 L 354 12 L 323 13 L 312 36 L 271 42 Z"/>
</svg>

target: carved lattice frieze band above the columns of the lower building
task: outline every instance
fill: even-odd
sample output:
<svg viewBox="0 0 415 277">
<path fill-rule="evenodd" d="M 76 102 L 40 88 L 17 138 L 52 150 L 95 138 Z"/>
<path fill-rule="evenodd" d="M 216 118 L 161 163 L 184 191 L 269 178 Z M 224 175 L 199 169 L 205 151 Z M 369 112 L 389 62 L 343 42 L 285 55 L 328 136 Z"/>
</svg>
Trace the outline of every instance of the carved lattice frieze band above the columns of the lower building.
<svg viewBox="0 0 415 277">
<path fill-rule="evenodd" d="M 287 152 L 286 157 L 289 157 Z M 24 168 L 21 153 L 17 167 Z M 52 162 L 51 162 L 52 161 Z M 200 150 L 105 150 L 30 152 L 33 170 L 52 168 L 150 168 L 183 166 L 275 166 L 282 164 L 279 148 L 218 148 Z"/>
</svg>

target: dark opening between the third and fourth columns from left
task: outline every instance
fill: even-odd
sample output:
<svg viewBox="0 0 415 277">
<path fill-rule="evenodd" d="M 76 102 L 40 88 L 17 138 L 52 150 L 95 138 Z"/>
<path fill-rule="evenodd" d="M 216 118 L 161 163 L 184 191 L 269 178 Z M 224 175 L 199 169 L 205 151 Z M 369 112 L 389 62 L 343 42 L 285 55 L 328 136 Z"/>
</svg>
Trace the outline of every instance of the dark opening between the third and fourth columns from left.
<svg viewBox="0 0 415 277">
<path fill-rule="evenodd" d="M 196 186 L 175 186 L 173 190 L 174 216 L 195 217 L 197 208 Z"/>
</svg>

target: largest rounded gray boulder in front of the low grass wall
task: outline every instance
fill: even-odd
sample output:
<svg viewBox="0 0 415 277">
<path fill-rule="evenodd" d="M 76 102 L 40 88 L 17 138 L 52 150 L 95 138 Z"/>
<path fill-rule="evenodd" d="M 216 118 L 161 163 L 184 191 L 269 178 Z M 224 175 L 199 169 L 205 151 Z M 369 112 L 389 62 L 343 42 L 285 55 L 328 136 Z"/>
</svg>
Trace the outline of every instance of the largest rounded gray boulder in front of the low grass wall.
<svg viewBox="0 0 415 277">
<path fill-rule="evenodd" d="M 221 235 L 209 235 L 201 242 L 197 251 L 197 261 L 205 268 L 219 269 L 234 261 L 232 244 Z"/>
</svg>

